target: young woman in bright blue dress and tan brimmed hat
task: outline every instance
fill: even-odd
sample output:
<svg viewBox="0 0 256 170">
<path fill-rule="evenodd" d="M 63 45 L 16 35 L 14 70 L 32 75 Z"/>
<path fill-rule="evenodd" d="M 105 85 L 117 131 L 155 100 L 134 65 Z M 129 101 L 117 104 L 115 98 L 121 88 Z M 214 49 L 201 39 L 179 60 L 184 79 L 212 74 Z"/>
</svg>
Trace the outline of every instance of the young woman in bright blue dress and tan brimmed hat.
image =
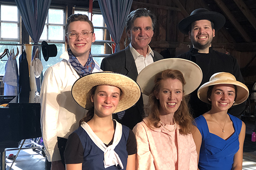
<svg viewBox="0 0 256 170">
<path fill-rule="evenodd" d="M 195 119 L 195 140 L 200 170 L 241 170 L 245 125 L 227 113 L 232 105 L 244 102 L 248 88 L 225 72 L 215 73 L 198 89 L 198 97 L 212 105 Z"/>
</svg>

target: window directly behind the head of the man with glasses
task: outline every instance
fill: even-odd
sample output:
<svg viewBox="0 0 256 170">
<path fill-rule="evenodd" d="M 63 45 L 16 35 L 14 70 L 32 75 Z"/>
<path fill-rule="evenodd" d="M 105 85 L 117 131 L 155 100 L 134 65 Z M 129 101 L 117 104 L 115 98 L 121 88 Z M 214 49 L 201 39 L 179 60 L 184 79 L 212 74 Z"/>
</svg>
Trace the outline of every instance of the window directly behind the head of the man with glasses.
<svg viewBox="0 0 256 170">
<path fill-rule="evenodd" d="M 83 10 L 78 8 L 74 10 L 74 14 L 85 14 L 88 16 L 89 12 L 86 9 Z M 93 43 L 91 47 L 91 53 L 94 56 L 93 58 L 100 65 L 102 59 L 105 56 L 104 54 L 110 54 L 111 51 L 111 47 L 105 43 L 106 40 L 110 40 L 110 34 L 108 33 L 107 27 L 105 25 L 100 10 L 93 9 L 92 23 L 94 27 L 96 41 Z"/>
</svg>

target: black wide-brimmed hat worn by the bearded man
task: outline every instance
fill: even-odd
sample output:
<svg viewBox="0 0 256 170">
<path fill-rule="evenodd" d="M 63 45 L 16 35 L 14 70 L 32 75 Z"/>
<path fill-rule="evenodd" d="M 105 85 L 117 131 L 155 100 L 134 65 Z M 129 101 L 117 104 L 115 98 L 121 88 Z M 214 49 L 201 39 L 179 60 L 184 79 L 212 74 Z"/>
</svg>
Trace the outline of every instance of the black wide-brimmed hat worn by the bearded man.
<svg viewBox="0 0 256 170">
<path fill-rule="evenodd" d="M 189 17 L 186 17 L 180 21 L 180 23 L 178 24 L 180 32 L 182 32 L 183 34 L 189 34 L 189 25 L 194 21 L 198 20 L 211 21 L 212 23 L 214 23 L 215 31 L 221 29 L 226 22 L 226 18 L 222 14 L 218 12 L 209 11 L 205 8 L 198 8 L 192 11 Z"/>
</svg>

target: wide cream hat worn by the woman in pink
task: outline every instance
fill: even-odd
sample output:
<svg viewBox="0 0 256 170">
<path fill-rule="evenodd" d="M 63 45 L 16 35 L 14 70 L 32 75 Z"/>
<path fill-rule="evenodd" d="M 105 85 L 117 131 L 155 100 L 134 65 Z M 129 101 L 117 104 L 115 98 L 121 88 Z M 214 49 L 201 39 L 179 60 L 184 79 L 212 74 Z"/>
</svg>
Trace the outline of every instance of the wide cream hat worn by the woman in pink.
<svg viewBox="0 0 256 170">
<path fill-rule="evenodd" d="M 140 71 L 137 83 L 142 93 L 148 96 L 154 88 L 155 75 L 167 69 L 179 70 L 183 74 L 186 81 L 183 87 L 185 95 L 198 88 L 203 78 L 201 68 L 195 62 L 180 58 L 161 59 Z"/>
</svg>

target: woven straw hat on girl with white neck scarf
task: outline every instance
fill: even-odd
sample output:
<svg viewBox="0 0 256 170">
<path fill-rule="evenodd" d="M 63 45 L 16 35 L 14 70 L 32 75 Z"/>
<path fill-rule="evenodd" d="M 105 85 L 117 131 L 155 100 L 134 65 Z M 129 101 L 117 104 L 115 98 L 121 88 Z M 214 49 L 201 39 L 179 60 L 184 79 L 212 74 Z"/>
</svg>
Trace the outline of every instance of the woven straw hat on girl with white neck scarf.
<svg viewBox="0 0 256 170">
<path fill-rule="evenodd" d="M 114 113 L 130 108 L 140 98 L 140 87 L 133 79 L 119 73 L 97 72 L 79 78 L 71 89 L 73 98 L 81 107 L 88 110 L 93 107 L 87 94 L 96 85 L 111 85 L 122 90 L 122 97 Z"/>
</svg>

